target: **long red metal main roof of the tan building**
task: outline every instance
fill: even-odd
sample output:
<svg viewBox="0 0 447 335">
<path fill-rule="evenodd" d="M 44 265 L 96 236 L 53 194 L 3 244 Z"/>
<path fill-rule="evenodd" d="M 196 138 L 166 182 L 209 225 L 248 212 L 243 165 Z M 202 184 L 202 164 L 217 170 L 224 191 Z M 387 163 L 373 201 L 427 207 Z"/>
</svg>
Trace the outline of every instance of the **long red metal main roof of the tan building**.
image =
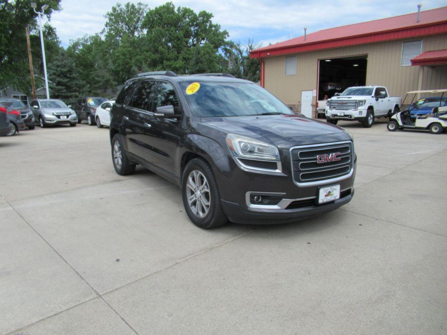
<svg viewBox="0 0 447 335">
<path fill-rule="evenodd" d="M 447 6 L 386 19 L 343 25 L 292 38 L 250 52 L 251 58 L 278 56 L 306 51 L 331 49 L 375 42 L 391 41 L 447 33 Z"/>
</svg>

